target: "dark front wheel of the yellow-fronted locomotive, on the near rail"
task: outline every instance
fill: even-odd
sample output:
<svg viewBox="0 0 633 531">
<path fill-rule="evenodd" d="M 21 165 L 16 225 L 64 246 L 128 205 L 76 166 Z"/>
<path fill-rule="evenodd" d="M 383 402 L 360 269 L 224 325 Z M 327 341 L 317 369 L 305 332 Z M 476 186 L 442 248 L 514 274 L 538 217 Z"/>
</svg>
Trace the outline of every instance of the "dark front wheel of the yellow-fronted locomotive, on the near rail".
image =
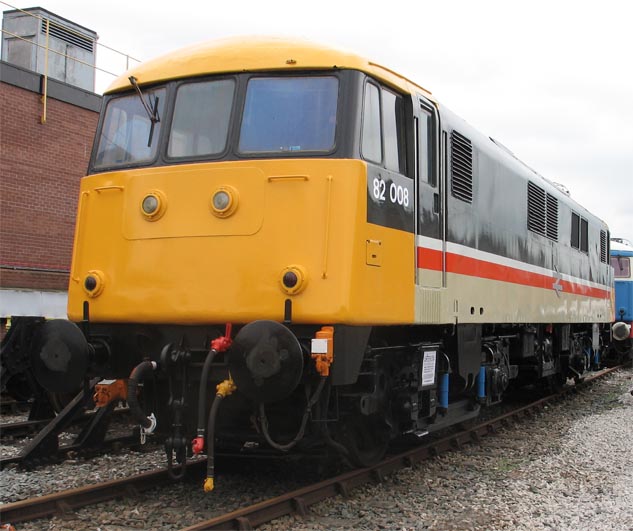
<svg viewBox="0 0 633 531">
<path fill-rule="evenodd" d="M 384 457 L 389 446 L 389 427 L 384 418 L 357 415 L 341 422 L 341 443 L 353 465 L 368 467 Z"/>
</svg>

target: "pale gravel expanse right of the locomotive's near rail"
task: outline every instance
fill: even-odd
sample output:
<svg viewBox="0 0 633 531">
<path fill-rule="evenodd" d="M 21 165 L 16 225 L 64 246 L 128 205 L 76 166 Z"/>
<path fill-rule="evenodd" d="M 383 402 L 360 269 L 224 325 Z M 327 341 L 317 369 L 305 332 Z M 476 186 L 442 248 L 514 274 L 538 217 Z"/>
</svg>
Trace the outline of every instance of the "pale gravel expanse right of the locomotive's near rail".
<svg viewBox="0 0 633 531">
<path fill-rule="evenodd" d="M 633 531 L 633 370 L 266 531 Z"/>
</svg>

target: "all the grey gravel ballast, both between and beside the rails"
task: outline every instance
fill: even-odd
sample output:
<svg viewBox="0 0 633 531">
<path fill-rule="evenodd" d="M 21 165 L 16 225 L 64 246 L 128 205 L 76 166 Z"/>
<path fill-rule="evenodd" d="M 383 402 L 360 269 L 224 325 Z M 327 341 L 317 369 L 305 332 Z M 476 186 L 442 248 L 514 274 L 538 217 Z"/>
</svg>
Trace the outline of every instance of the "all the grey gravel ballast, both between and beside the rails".
<svg viewBox="0 0 633 531">
<path fill-rule="evenodd" d="M 603 378 L 573 398 L 466 446 L 403 470 L 381 485 L 326 500 L 306 519 L 285 517 L 264 530 L 633 531 L 633 369 Z M 4 418 L 3 418 L 4 421 Z M 1 447 L 2 455 L 11 445 Z M 6 452 L 6 453 L 5 453 Z M 106 455 L 25 473 L 0 472 L 7 503 L 164 463 L 162 452 Z M 212 494 L 179 483 L 18 531 L 177 530 L 319 478 L 311 463 L 241 467 L 219 475 Z"/>
</svg>

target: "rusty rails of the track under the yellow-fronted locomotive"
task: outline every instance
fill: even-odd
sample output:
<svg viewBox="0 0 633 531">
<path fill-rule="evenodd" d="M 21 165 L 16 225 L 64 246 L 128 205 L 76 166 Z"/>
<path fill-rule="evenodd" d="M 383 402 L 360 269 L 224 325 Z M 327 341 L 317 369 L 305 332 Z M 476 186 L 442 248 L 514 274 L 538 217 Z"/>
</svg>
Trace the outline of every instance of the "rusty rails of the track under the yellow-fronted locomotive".
<svg viewBox="0 0 633 531">
<path fill-rule="evenodd" d="M 536 411 L 548 404 L 569 396 L 577 389 L 583 388 L 587 383 L 622 367 L 623 366 L 617 366 L 595 373 L 588 376 L 581 385 L 565 387 L 559 393 L 541 398 L 485 422 L 479 422 L 443 438 L 416 446 L 415 448 L 408 449 L 396 455 L 391 455 L 373 467 L 346 472 L 281 496 L 199 522 L 187 527 L 184 531 L 213 529 L 247 530 L 284 515 L 293 513 L 306 515 L 309 507 L 319 501 L 336 496 L 337 494 L 348 496 L 353 489 L 363 484 L 381 482 L 387 475 L 397 470 L 412 467 L 416 463 L 436 455 L 459 449 L 465 444 L 476 443 L 482 437 L 495 433 L 506 425 L 530 418 Z M 188 463 L 188 469 L 194 473 L 201 474 L 204 467 L 204 459 L 198 459 Z M 142 491 L 159 487 L 169 481 L 167 470 L 157 470 L 129 478 L 89 485 L 15 503 L 8 503 L 0 505 L 0 522 L 11 522 L 15 524 L 35 520 L 37 518 L 51 517 L 106 500 L 137 495 Z"/>
</svg>

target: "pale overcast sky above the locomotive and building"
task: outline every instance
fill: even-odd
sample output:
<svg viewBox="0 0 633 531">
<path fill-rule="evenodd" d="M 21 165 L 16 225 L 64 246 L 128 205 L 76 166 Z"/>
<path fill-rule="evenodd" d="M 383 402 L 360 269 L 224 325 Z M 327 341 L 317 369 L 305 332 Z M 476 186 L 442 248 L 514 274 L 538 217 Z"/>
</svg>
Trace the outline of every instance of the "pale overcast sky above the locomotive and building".
<svg viewBox="0 0 633 531">
<path fill-rule="evenodd" d="M 633 3 L 628 0 L 22 0 L 141 60 L 231 35 L 344 47 L 429 89 L 633 241 Z M 3 10 L 9 7 L 0 4 Z M 122 72 L 105 48 L 98 64 Z M 111 78 L 100 75 L 98 89 Z"/>
</svg>

